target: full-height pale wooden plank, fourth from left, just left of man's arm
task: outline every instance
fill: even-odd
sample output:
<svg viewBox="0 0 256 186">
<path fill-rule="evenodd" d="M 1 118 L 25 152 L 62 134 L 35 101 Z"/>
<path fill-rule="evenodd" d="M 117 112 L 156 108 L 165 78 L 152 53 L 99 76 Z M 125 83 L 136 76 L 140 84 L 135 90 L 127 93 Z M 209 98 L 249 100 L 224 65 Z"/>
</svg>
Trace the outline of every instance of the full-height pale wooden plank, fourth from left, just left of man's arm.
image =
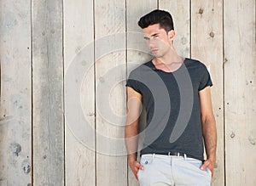
<svg viewBox="0 0 256 186">
<path fill-rule="evenodd" d="M 95 1 L 95 37 L 96 185 L 126 185 L 127 163 L 117 140 L 125 144 L 125 120 L 116 120 L 125 116 L 125 0 Z"/>
</svg>

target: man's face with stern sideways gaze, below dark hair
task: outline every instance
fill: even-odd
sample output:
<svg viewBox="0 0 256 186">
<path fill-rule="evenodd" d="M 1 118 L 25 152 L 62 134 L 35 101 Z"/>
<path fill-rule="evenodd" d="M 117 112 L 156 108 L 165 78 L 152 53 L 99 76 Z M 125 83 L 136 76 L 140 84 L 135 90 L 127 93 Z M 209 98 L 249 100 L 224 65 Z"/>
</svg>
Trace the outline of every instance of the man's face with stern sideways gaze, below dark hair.
<svg viewBox="0 0 256 186">
<path fill-rule="evenodd" d="M 143 34 L 148 48 L 156 58 L 163 57 L 171 49 L 172 39 L 165 29 L 160 28 L 160 24 L 149 25 L 143 29 Z"/>
</svg>

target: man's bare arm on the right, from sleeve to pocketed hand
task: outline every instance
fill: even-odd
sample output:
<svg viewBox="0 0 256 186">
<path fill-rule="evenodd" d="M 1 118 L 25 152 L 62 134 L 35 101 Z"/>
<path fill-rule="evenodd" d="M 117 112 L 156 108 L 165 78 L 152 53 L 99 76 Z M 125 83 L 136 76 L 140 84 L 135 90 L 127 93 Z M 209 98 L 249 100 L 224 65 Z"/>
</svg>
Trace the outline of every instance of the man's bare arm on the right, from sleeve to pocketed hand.
<svg viewBox="0 0 256 186">
<path fill-rule="evenodd" d="M 204 162 L 201 169 L 208 167 L 213 176 L 213 168 L 216 160 L 217 130 L 212 111 L 210 87 L 205 87 L 203 90 L 201 90 L 199 92 L 199 96 L 201 104 L 202 134 L 207 150 L 207 161 Z"/>
</svg>

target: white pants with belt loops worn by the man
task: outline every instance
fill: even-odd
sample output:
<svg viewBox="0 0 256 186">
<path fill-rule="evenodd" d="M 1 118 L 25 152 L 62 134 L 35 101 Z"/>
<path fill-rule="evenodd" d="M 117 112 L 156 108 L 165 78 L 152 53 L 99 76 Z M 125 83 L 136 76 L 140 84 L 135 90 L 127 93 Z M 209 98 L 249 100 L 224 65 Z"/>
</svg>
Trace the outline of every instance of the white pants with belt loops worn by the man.
<svg viewBox="0 0 256 186">
<path fill-rule="evenodd" d="M 200 169 L 202 161 L 173 155 L 142 155 L 140 186 L 210 186 L 212 172 Z"/>
</svg>

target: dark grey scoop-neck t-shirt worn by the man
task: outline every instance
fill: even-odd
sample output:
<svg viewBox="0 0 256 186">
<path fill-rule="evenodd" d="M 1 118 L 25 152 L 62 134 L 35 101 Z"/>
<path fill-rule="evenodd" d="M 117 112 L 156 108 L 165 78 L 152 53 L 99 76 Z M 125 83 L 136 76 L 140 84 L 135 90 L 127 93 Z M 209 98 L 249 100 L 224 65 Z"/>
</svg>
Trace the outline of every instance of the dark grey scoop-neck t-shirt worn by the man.
<svg viewBox="0 0 256 186">
<path fill-rule="evenodd" d="M 147 116 L 141 155 L 172 151 L 203 160 L 199 91 L 212 86 L 205 65 L 185 59 L 179 69 L 165 72 L 148 61 L 131 71 L 126 86 L 143 96 Z"/>
</svg>

